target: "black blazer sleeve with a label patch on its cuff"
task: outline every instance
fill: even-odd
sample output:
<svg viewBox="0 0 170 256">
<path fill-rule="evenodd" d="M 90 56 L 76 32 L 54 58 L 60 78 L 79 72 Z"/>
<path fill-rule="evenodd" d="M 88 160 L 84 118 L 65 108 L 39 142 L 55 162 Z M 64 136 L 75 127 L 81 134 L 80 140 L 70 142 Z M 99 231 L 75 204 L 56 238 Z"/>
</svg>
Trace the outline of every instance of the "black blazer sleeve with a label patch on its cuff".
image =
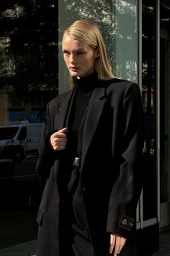
<svg viewBox="0 0 170 256">
<path fill-rule="evenodd" d="M 143 106 L 138 85 L 130 84 L 123 97 L 125 128 L 119 176 L 109 199 L 107 231 L 128 236 L 136 225 L 136 207 L 143 183 Z"/>
</svg>

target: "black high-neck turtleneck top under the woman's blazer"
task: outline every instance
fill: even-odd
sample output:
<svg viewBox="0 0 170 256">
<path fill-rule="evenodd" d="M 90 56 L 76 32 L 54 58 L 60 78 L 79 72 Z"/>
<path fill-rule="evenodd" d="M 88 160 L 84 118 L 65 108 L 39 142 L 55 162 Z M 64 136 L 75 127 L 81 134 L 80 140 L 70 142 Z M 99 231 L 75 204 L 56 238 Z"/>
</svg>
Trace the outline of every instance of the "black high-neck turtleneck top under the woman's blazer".
<svg viewBox="0 0 170 256">
<path fill-rule="evenodd" d="M 79 127 L 81 126 L 81 121 L 86 113 L 91 94 L 93 93 L 94 88 L 97 88 L 97 84 L 97 72 L 93 72 L 92 74 L 89 74 L 89 76 L 82 77 L 76 81 L 76 95 L 71 110 L 71 120 L 69 122 L 69 130 L 72 137 L 71 148 L 74 153 L 76 153 L 75 151 L 78 144 Z"/>
</svg>

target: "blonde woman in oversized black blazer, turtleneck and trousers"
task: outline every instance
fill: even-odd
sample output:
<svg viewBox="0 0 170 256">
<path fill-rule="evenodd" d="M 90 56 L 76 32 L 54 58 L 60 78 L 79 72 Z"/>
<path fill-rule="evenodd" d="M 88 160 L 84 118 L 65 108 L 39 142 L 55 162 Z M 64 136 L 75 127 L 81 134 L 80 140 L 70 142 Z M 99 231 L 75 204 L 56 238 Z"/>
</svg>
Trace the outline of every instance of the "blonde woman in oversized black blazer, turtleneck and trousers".
<svg viewBox="0 0 170 256">
<path fill-rule="evenodd" d="M 72 89 L 47 106 L 37 161 L 37 172 L 47 179 L 37 256 L 136 255 L 140 90 L 114 77 L 93 22 L 68 27 L 62 48 Z"/>
</svg>

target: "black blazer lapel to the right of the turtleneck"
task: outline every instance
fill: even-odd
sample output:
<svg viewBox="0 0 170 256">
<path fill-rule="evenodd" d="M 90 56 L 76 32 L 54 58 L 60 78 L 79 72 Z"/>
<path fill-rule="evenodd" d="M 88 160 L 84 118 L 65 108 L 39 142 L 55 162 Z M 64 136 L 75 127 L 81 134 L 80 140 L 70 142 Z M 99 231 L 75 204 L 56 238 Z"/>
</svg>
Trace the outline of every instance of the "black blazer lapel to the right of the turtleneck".
<svg viewBox="0 0 170 256">
<path fill-rule="evenodd" d="M 86 121 L 84 124 L 84 136 L 82 144 L 82 155 L 81 155 L 81 168 L 84 165 L 84 160 L 86 157 L 86 152 L 89 149 L 92 138 L 97 130 L 99 124 L 100 116 L 105 103 L 107 102 L 106 88 L 96 88 L 94 93 L 91 95 L 91 100 L 89 102 L 89 108 L 86 114 Z"/>
</svg>

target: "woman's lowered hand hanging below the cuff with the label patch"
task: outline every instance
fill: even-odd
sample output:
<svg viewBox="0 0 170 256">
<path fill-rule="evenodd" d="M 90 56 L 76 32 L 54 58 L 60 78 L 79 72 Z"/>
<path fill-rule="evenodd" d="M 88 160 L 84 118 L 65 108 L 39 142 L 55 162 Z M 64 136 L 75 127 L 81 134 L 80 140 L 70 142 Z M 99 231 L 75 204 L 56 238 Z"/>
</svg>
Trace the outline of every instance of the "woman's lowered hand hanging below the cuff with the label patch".
<svg viewBox="0 0 170 256">
<path fill-rule="evenodd" d="M 116 256 L 120 254 L 122 247 L 125 245 L 125 242 L 125 237 L 118 236 L 117 234 L 110 234 L 109 253 L 112 254 L 115 247 L 113 255 Z"/>
</svg>

